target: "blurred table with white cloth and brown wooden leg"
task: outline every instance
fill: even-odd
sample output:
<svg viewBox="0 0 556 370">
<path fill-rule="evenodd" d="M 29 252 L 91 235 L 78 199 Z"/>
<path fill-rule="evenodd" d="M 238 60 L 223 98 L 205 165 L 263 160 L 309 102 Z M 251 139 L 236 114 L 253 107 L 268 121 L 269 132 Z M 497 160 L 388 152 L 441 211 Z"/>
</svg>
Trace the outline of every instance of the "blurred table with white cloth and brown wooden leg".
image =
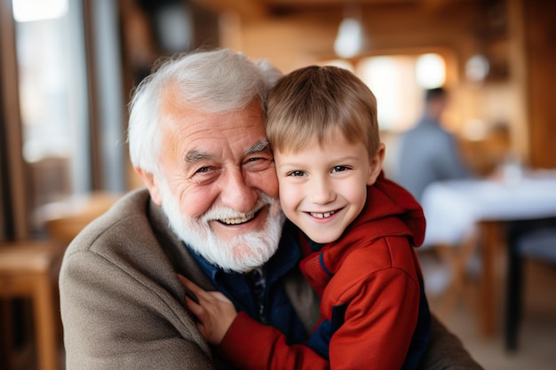
<svg viewBox="0 0 556 370">
<path fill-rule="evenodd" d="M 481 247 L 481 332 L 496 332 L 496 252 L 506 243 L 507 222 L 556 216 L 556 171 L 528 171 L 510 182 L 488 179 L 434 183 L 422 199 L 427 238 L 457 244 L 475 228 Z M 426 239 L 426 238 L 425 238 Z"/>
</svg>

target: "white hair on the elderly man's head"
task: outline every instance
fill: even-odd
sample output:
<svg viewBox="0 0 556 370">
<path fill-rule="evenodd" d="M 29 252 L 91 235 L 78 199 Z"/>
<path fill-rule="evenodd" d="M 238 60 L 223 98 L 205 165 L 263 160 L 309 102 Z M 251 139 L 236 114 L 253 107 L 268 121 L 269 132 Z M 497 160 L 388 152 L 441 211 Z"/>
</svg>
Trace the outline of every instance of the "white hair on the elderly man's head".
<svg viewBox="0 0 556 370">
<path fill-rule="evenodd" d="M 162 148 L 160 107 L 163 93 L 172 84 L 179 104 L 203 113 L 240 110 L 266 95 L 282 73 L 266 60 L 251 61 L 227 49 L 194 51 L 163 61 L 134 91 L 130 104 L 128 143 L 134 167 L 160 174 Z"/>
</svg>

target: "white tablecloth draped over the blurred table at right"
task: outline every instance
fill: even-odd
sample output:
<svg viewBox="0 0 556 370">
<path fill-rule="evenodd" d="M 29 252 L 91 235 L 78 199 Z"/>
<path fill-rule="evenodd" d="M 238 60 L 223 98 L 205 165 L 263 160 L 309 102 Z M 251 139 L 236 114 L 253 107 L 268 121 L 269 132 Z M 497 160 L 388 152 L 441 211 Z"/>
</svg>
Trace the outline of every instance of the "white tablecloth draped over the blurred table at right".
<svg viewBox="0 0 556 370">
<path fill-rule="evenodd" d="M 428 185 L 421 201 L 425 245 L 457 244 L 481 221 L 556 216 L 556 171 L 536 170 L 512 181 L 450 180 Z"/>
</svg>

